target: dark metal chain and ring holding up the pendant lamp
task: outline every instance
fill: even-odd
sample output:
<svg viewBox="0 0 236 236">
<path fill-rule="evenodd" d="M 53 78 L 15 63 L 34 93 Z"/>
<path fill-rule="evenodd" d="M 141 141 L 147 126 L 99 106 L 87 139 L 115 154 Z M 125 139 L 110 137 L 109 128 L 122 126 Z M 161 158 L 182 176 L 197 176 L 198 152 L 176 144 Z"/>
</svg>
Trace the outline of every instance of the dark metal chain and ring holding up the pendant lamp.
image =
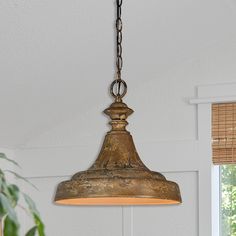
<svg viewBox="0 0 236 236">
<path fill-rule="evenodd" d="M 116 0 L 117 6 L 117 18 L 116 18 L 116 79 L 111 84 L 110 92 L 116 99 L 121 99 L 127 92 L 127 85 L 124 80 L 121 79 L 121 71 L 123 67 L 122 58 L 122 19 L 121 19 L 121 7 L 123 0 Z M 114 92 L 115 88 L 115 92 Z"/>
</svg>

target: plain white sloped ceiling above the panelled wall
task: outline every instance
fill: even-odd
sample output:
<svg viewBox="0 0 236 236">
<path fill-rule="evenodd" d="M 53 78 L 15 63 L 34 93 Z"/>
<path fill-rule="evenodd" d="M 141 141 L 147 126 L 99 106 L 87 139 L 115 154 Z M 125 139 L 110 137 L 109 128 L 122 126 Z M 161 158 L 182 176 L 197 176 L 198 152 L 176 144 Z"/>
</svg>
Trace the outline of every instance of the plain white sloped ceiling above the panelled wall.
<svg viewBox="0 0 236 236">
<path fill-rule="evenodd" d="M 114 2 L 0 1 L 0 146 L 23 146 L 110 101 Z M 123 19 L 130 87 L 236 42 L 234 0 L 124 0 Z"/>
</svg>

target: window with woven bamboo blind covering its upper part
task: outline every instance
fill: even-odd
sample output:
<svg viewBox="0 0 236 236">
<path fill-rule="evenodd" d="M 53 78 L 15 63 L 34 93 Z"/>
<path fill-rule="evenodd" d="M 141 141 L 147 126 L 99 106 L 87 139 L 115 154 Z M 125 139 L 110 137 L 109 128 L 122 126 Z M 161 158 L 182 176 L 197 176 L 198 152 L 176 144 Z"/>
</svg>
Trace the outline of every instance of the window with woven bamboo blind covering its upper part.
<svg viewBox="0 0 236 236">
<path fill-rule="evenodd" d="M 220 236 L 236 236 L 236 103 L 212 105 L 212 153 L 220 166 Z"/>
</svg>

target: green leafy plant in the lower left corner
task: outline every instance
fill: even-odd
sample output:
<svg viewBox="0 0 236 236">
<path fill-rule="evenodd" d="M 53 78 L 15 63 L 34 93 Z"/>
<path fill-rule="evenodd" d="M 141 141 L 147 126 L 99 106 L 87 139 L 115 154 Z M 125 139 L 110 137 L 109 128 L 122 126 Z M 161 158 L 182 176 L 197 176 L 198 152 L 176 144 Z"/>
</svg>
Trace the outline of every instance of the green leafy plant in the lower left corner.
<svg viewBox="0 0 236 236">
<path fill-rule="evenodd" d="M 7 158 L 4 153 L 0 153 L 0 159 L 19 167 L 17 162 Z M 14 171 L 3 170 L 0 167 L 0 236 L 19 236 L 20 222 L 16 212 L 18 207 L 27 211 L 34 222 L 34 225 L 25 233 L 25 236 L 34 236 L 36 234 L 45 236 L 44 224 L 34 201 L 22 192 L 19 186 L 7 180 L 7 172 L 14 175 L 17 179 L 31 184 L 27 179 Z M 20 205 L 20 198 L 23 199 L 25 206 Z"/>
</svg>

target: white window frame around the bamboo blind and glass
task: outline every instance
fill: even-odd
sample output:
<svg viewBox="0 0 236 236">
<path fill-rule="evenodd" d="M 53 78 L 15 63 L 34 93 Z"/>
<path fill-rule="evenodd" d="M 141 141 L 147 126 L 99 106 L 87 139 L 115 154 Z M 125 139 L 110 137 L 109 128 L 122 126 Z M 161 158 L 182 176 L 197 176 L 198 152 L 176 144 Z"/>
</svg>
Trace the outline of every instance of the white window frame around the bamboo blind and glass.
<svg viewBox="0 0 236 236">
<path fill-rule="evenodd" d="M 220 235 L 219 167 L 211 155 L 211 105 L 236 102 L 236 83 L 202 85 L 190 104 L 197 105 L 199 141 L 199 236 Z M 209 227 L 211 225 L 211 227 Z"/>
</svg>

